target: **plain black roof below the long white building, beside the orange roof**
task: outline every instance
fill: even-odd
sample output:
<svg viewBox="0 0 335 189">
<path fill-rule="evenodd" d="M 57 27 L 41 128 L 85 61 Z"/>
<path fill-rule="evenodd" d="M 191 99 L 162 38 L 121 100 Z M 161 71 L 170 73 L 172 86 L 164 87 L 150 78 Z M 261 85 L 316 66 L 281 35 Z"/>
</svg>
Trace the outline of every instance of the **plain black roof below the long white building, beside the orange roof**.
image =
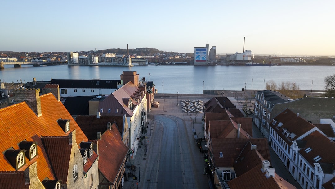
<svg viewBox="0 0 335 189">
<path fill-rule="evenodd" d="M 66 97 L 64 106 L 71 115 L 89 115 L 88 101 L 95 96 Z"/>
</svg>

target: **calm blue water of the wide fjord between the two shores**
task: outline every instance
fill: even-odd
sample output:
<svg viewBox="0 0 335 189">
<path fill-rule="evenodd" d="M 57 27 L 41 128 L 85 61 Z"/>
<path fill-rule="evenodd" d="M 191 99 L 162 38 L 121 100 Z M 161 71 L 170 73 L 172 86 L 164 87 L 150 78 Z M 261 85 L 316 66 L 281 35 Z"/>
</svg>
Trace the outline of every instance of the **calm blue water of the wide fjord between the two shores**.
<svg viewBox="0 0 335 189">
<path fill-rule="evenodd" d="M 295 82 L 300 90 L 324 90 L 326 76 L 335 74 L 335 66 L 281 65 L 281 66 L 39 66 L 22 65 L 14 68 L 5 65 L 0 79 L 14 82 L 50 81 L 53 79 L 112 79 L 119 80 L 123 71 L 137 71 L 140 78 L 153 81 L 158 93 L 202 94 L 202 90 L 263 89 L 266 82 Z M 150 73 L 150 75 L 149 75 Z M 264 82 L 265 80 L 265 82 Z M 313 87 L 312 87 L 313 80 Z M 245 83 L 246 82 L 246 83 Z M 245 87 L 246 84 L 246 87 Z"/>
</svg>

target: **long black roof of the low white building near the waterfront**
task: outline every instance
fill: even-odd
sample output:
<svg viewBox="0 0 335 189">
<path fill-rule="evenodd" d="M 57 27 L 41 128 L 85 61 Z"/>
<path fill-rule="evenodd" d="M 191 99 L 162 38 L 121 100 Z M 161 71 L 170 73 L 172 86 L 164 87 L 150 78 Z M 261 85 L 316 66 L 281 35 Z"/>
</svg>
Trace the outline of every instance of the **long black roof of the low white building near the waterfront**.
<svg viewBox="0 0 335 189">
<path fill-rule="evenodd" d="M 50 80 L 50 84 L 59 84 L 59 88 L 117 89 L 117 83 L 121 80 Z"/>
</svg>

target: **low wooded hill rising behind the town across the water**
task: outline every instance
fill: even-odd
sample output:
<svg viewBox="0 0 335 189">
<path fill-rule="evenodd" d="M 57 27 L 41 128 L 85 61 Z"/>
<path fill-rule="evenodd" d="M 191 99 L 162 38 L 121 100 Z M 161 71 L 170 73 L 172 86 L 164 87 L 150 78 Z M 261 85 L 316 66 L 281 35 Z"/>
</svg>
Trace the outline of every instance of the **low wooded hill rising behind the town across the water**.
<svg viewBox="0 0 335 189">
<path fill-rule="evenodd" d="M 98 50 L 95 52 L 96 54 L 106 54 L 106 53 L 117 53 L 117 54 L 127 54 L 127 49 L 106 49 L 106 50 Z M 157 54 L 163 53 L 158 49 L 154 48 L 136 48 L 136 49 L 129 49 L 129 54 L 139 54 L 139 55 L 148 55 L 148 54 Z"/>
</svg>

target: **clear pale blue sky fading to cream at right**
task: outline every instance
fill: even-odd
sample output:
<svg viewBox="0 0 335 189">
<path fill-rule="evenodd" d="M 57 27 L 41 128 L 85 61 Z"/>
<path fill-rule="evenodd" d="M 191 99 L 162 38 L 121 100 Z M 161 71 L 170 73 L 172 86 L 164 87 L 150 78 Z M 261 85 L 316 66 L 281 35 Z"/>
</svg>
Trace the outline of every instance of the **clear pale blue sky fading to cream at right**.
<svg viewBox="0 0 335 189">
<path fill-rule="evenodd" d="M 334 0 L 10 0 L 0 50 L 66 52 L 150 47 L 216 54 L 335 55 Z"/>
</svg>

